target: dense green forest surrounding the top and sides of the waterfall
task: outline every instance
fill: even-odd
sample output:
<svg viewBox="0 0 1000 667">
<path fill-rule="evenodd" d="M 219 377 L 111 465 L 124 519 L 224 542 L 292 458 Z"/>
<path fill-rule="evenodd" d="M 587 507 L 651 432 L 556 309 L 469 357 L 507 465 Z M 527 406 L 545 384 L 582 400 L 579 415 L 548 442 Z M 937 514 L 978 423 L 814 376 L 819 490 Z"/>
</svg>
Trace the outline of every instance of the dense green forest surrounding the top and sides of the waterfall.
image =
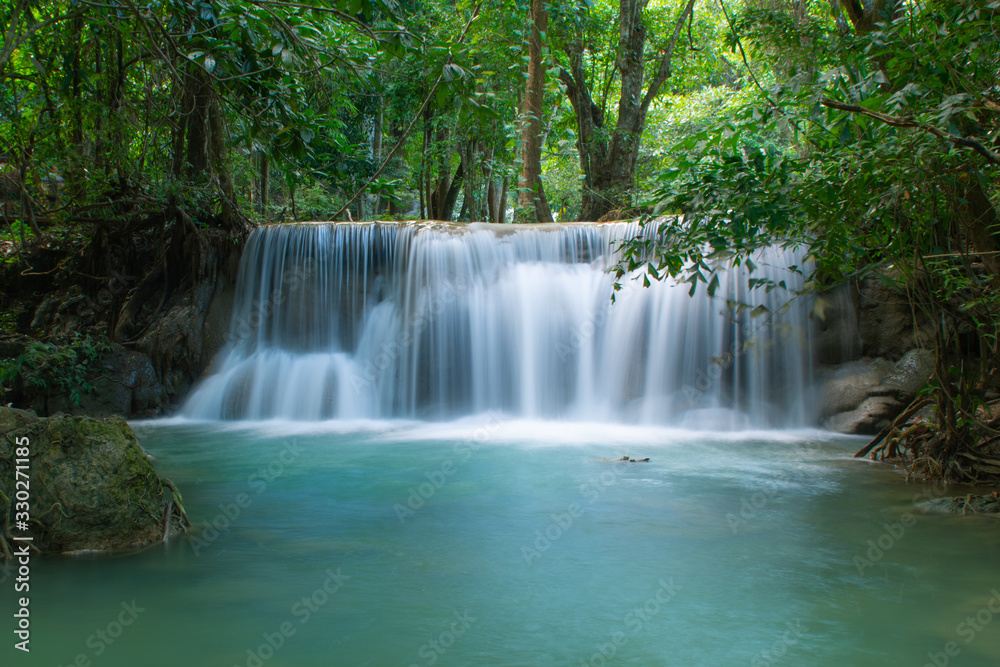
<svg viewBox="0 0 1000 667">
<path fill-rule="evenodd" d="M 12 396 L 79 394 L 88 359 L 134 344 L 258 224 L 636 219 L 657 234 L 626 243 L 616 287 L 638 270 L 712 294 L 719 271 L 780 245 L 806 249 L 804 292 L 896 290 L 936 359 L 905 417 L 936 417 L 894 421 L 876 452 L 1000 473 L 998 2 L 2 12 L 0 299 L 5 335 L 33 341 L 8 345 Z M 102 300 L 73 326 L 33 323 L 73 285 Z"/>
</svg>

